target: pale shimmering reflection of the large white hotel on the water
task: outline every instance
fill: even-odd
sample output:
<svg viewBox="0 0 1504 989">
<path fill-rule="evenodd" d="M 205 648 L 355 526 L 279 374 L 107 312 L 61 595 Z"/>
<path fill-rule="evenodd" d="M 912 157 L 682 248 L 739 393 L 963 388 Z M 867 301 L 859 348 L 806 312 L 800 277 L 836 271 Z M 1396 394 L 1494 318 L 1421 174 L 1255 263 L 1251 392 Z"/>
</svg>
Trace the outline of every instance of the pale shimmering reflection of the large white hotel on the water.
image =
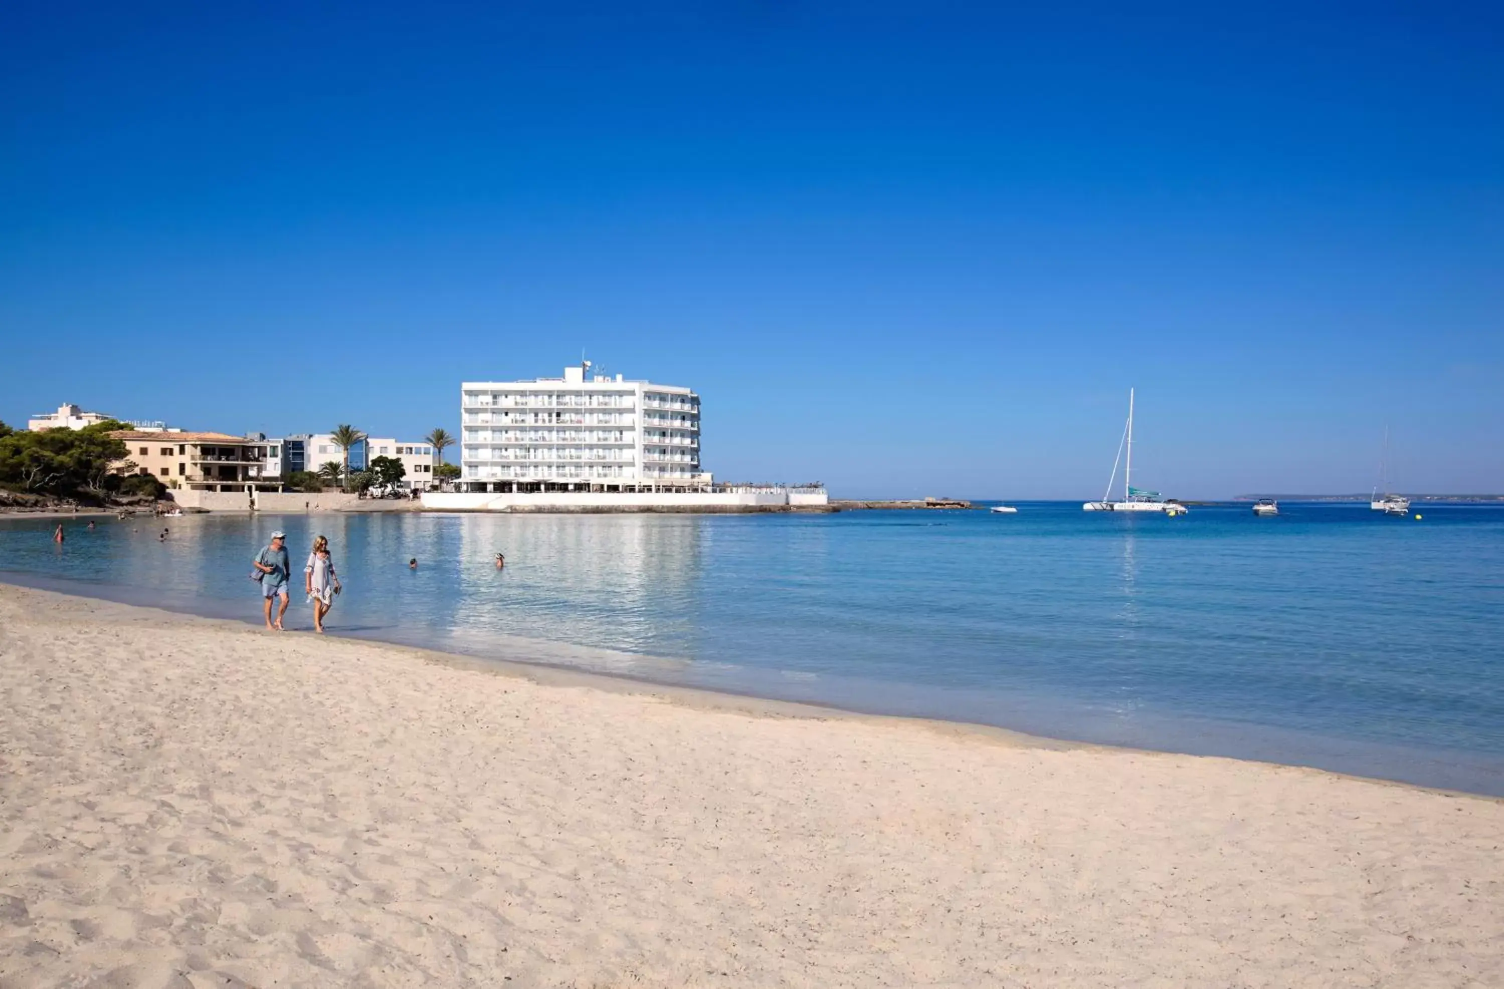
<svg viewBox="0 0 1504 989">
<path fill-rule="evenodd" d="M 459 531 L 457 627 L 681 655 L 701 577 L 702 516 L 493 516 Z M 507 555 L 496 571 L 496 553 Z M 674 648 L 674 643 L 680 643 Z"/>
</svg>

